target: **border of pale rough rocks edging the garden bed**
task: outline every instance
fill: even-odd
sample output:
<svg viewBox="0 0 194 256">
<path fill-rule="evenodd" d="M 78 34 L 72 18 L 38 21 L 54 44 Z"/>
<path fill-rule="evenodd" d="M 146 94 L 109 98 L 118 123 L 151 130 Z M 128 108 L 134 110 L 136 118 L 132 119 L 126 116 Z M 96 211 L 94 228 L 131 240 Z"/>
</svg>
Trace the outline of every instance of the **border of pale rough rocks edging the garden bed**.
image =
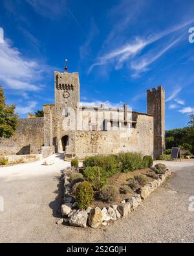
<svg viewBox="0 0 194 256">
<path fill-rule="evenodd" d="M 118 218 L 125 218 L 131 211 L 135 210 L 142 200 L 146 199 L 151 192 L 155 191 L 166 180 L 168 176 L 171 176 L 171 172 L 167 169 L 165 174 L 159 174 L 157 180 L 153 180 L 140 188 L 138 193 L 133 196 L 122 200 L 118 205 L 109 205 L 109 207 L 88 207 L 86 210 L 76 209 L 76 202 L 70 195 L 72 191 L 72 185 L 70 184 L 69 172 L 66 169 L 63 170 L 64 181 L 64 197 L 63 204 L 61 205 L 61 215 L 63 218 L 59 219 L 56 223 L 63 224 L 63 222 L 69 222 L 70 226 L 87 227 L 87 223 L 90 227 L 96 228 L 109 225 L 109 221 L 115 221 Z"/>
</svg>

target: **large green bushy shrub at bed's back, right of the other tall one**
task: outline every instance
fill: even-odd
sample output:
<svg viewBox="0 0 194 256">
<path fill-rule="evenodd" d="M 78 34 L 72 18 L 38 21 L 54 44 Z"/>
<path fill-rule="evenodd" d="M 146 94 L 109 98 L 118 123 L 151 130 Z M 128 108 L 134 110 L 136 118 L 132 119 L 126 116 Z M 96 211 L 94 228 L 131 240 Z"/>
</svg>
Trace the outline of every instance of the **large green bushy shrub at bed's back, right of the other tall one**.
<svg viewBox="0 0 194 256">
<path fill-rule="evenodd" d="M 145 161 L 142 159 L 141 154 L 138 153 L 120 153 L 118 154 L 118 161 L 121 163 L 121 170 L 123 172 L 145 168 Z"/>
</svg>

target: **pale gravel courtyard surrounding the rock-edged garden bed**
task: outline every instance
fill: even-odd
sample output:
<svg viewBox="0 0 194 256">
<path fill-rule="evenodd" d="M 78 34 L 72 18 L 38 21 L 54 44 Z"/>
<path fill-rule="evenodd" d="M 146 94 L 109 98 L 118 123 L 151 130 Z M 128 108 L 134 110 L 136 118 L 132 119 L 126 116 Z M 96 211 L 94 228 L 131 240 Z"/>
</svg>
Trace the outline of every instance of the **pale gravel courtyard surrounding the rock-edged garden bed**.
<svg viewBox="0 0 194 256">
<path fill-rule="evenodd" d="M 0 242 L 194 242 L 194 161 L 164 162 L 173 177 L 127 218 L 99 229 L 56 225 L 61 205 L 60 154 L 43 161 L 0 168 Z M 161 162 L 161 161 L 160 161 Z"/>
</svg>

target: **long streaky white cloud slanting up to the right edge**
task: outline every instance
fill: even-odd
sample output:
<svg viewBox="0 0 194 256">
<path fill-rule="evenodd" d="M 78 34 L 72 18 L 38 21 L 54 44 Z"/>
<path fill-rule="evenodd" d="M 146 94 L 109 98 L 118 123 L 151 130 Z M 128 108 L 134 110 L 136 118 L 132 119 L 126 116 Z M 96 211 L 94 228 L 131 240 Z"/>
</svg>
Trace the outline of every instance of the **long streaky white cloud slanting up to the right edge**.
<svg viewBox="0 0 194 256">
<path fill-rule="evenodd" d="M 114 65 L 115 69 L 120 69 L 125 63 L 127 63 L 127 65 L 131 69 L 135 69 L 136 72 L 146 71 L 146 67 L 148 65 L 155 62 L 167 50 L 174 47 L 179 41 L 182 40 L 183 35 L 178 36 L 176 40 L 171 40 L 170 43 L 167 43 L 167 44 L 163 43 L 164 45 L 163 49 L 157 50 L 155 49 L 155 47 L 153 47 L 153 51 L 149 52 L 149 54 L 146 54 L 141 58 L 138 58 L 138 60 L 135 60 L 135 57 L 138 54 L 140 54 L 142 50 L 145 49 L 148 45 L 151 45 L 156 41 L 161 40 L 165 36 L 169 36 L 173 32 L 179 32 L 179 30 L 186 27 L 192 21 L 193 19 L 186 23 L 178 24 L 158 34 L 151 34 L 149 36 L 144 36 L 144 37 L 136 36 L 135 39 L 129 40 L 129 43 L 125 45 L 121 45 L 120 47 L 117 47 L 111 51 L 108 50 L 108 53 L 105 52 L 104 54 L 100 54 L 96 62 L 94 62 L 94 64 L 92 64 L 89 67 L 88 73 L 90 73 L 92 69 L 94 69 L 94 67 L 96 66 L 110 64 L 111 62 L 116 63 Z"/>
</svg>

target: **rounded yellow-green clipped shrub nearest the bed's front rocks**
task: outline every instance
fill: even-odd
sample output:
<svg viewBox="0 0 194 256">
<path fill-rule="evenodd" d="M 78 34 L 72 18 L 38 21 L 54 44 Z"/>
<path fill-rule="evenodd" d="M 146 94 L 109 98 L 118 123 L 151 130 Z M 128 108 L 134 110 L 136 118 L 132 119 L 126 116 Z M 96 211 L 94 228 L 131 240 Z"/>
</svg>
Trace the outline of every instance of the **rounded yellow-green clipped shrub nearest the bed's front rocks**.
<svg viewBox="0 0 194 256">
<path fill-rule="evenodd" d="M 76 203 L 80 209 L 89 207 L 94 200 L 94 192 L 89 182 L 83 181 L 76 188 Z"/>
</svg>

